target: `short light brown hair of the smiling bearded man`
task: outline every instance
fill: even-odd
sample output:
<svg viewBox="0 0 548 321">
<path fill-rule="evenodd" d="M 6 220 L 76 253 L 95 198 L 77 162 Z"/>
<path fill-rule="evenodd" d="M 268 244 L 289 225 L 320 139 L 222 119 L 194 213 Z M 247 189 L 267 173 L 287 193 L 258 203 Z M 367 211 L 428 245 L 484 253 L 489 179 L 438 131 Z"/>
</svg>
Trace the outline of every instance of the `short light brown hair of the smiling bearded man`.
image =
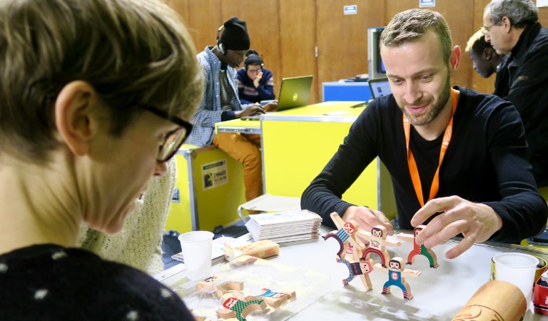
<svg viewBox="0 0 548 321">
<path fill-rule="evenodd" d="M 445 61 L 451 56 L 451 31 L 445 18 L 428 9 L 410 9 L 396 14 L 380 35 L 381 46 L 400 46 L 422 39 L 428 31 L 437 34 Z"/>
</svg>

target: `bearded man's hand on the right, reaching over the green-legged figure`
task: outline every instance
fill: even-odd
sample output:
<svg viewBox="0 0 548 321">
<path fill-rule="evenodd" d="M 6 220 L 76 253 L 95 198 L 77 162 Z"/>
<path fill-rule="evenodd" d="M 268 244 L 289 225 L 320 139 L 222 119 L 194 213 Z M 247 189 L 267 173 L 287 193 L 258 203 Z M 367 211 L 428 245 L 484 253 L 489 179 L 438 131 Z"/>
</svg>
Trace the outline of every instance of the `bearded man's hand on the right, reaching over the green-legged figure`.
<svg viewBox="0 0 548 321">
<path fill-rule="evenodd" d="M 502 228 L 502 219 L 492 208 L 485 204 L 472 203 L 458 196 L 428 201 L 415 213 L 411 225 L 415 227 L 421 225 L 436 213 L 440 215 L 432 218 L 426 228 L 417 235 L 417 244 L 433 248 L 462 233 L 464 238 L 460 243 L 445 253 L 445 258 L 448 259 L 457 258 L 474 243 L 489 240 L 491 235 Z"/>
</svg>

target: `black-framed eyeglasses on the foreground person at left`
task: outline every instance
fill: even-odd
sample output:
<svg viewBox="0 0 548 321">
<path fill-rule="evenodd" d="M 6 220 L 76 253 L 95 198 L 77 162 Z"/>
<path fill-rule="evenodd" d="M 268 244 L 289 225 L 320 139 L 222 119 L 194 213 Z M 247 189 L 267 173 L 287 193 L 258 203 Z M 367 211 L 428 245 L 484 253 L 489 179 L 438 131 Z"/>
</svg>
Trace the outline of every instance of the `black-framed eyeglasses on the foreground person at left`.
<svg viewBox="0 0 548 321">
<path fill-rule="evenodd" d="M 177 128 L 176 130 L 170 131 L 169 133 L 167 133 L 162 145 L 158 149 L 158 156 L 156 156 L 156 161 L 158 162 L 169 161 L 169 159 L 172 158 L 177 153 L 178 149 L 186 141 L 186 138 L 188 138 L 188 135 L 191 134 L 192 124 L 186 121 L 183 121 L 183 119 L 181 118 L 171 116 L 166 111 L 162 111 L 161 109 L 158 109 L 150 105 L 138 105 L 138 107 L 146 111 L 150 111 L 156 116 L 159 116 L 161 118 L 167 119 L 168 121 L 176 123 L 178 126 L 181 126 Z"/>
</svg>

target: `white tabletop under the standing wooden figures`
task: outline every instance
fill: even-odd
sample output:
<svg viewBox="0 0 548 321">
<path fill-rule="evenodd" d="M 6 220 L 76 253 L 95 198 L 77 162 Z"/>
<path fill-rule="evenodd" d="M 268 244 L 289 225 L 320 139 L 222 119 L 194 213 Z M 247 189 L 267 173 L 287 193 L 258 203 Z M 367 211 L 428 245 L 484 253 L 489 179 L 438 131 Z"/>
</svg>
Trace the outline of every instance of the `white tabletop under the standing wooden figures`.
<svg viewBox="0 0 548 321">
<path fill-rule="evenodd" d="M 322 233 L 325 232 L 322 228 Z M 397 287 L 391 287 L 392 293 L 389 295 L 380 294 L 387 275 L 378 271 L 370 274 L 373 290 L 366 292 L 358 277 L 343 286 L 342 279 L 347 277 L 348 270 L 345 265 L 335 262 L 339 245 L 332 239 L 280 244 L 280 255 L 269 261 L 318 272 L 325 275 L 327 282 L 323 296 L 310 305 L 297 312 L 273 313 L 270 320 L 451 320 L 476 290 L 489 280 L 490 260 L 494 254 L 527 251 L 548 258 L 548 252 L 539 248 L 474 245 L 460 257 L 447 260 L 445 252 L 454 245 L 453 241 L 448 241 L 434 248 L 440 264 L 437 269 L 430 268 L 427 259 L 420 255 L 415 257 L 413 265 L 407 265 L 407 269 L 421 270 L 422 275 L 406 278 L 414 298 L 404 300 Z M 400 247 L 388 250 L 391 258 L 398 256 L 405 260 L 412 244 L 404 242 Z M 378 260 L 375 255 L 372 258 Z M 218 266 L 214 267 L 214 272 L 215 268 Z M 184 272 L 180 272 L 164 278 L 163 282 L 173 288 L 184 280 Z M 298 300 L 303 298 L 299 297 L 299 293 L 297 297 Z M 548 320 L 548 316 L 535 315 L 531 308 L 524 320 Z"/>
</svg>

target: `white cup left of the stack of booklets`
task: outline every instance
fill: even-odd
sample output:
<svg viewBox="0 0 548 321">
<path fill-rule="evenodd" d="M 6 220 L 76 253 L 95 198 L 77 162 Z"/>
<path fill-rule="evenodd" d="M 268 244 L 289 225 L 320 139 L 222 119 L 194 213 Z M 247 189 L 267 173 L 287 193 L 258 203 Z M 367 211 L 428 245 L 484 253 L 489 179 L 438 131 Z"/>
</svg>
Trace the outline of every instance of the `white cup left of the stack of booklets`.
<svg viewBox="0 0 548 321">
<path fill-rule="evenodd" d="M 191 280 L 203 280 L 211 276 L 211 248 L 213 233 L 194 230 L 179 235 L 186 276 Z"/>
</svg>

